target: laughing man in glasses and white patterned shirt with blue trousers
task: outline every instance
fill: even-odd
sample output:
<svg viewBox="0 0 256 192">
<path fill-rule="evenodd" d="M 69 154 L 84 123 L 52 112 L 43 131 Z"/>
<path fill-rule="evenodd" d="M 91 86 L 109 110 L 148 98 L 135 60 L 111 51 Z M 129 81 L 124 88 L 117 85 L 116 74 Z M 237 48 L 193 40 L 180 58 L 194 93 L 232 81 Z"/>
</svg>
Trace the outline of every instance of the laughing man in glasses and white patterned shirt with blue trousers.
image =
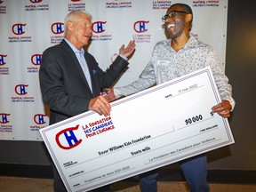
<svg viewBox="0 0 256 192">
<path fill-rule="evenodd" d="M 226 118 L 229 117 L 231 109 L 235 106 L 232 87 L 228 84 L 228 77 L 221 70 L 220 61 L 212 47 L 189 34 L 193 21 L 191 8 L 188 4 L 172 4 L 162 20 L 169 39 L 156 44 L 152 59 L 137 81 L 124 87 L 109 89 L 114 93 L 113 98 L 128 96 L 154 84 L 163 84 L 197 69 L 210 66 L 221 98 L 221 102 L 212 107 L 212 112 Z M 179 163 L 191 192 L 210 191 L 206 180 L 207 160 L 205 155 L 194 156 Z M 142 192 L 157 191 L 157 175 L 157 170 L 140 175 Z"/>
</svg>

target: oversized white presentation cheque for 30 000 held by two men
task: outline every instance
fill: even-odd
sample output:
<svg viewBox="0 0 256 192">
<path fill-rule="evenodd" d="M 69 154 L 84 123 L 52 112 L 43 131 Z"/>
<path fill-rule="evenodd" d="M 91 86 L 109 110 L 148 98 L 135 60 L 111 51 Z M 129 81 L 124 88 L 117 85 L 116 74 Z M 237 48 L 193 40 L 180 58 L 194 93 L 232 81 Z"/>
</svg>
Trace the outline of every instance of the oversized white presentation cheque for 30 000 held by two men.
<svg viewBox="0 0 256 192">
<path fill-rule="evenodd" d="M 234 143 L 203 68 L 40 130 L 68 191 L 88 191 Z"/>
</svg>

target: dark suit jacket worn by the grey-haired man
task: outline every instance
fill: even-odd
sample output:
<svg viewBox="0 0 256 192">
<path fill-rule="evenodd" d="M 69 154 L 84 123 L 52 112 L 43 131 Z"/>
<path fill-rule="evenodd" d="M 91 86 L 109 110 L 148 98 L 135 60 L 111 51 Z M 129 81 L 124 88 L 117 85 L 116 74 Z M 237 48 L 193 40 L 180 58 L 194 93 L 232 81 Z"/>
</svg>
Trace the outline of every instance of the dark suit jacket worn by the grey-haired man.
<svg viewBox="0 0 256 192">
<path fill-rule="evenodd" d="M 128 62 L 118 56 L 107 71 L 102 71 L 93 56 L 85 52 L 92 79 L 92 92 L 83 70 L 65 40 L 43 53 L 39 81 L 43 101 L 51 110 L 50 124 L 60 122 L 88 110 L 92 98 L 100 95 L 100 88 L 113 85 Z"/>
</svg>

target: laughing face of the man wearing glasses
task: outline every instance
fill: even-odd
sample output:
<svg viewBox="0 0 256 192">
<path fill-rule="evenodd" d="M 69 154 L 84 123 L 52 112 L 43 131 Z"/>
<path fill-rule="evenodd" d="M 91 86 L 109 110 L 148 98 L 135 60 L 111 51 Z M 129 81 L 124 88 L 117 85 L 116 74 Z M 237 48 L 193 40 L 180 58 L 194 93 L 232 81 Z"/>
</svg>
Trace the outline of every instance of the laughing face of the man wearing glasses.
<svg viewBox="0 0 256 192">
<path fill-rule="evenodd" d="M 171 6 L 166 12 L 166 19 L 164 21 L 164 28 L 168 36 L 172 39 L 178 38 L 180 36 L 188 36 L 188 14 L 182 9 L 180 5 Z"/>
</svg>

